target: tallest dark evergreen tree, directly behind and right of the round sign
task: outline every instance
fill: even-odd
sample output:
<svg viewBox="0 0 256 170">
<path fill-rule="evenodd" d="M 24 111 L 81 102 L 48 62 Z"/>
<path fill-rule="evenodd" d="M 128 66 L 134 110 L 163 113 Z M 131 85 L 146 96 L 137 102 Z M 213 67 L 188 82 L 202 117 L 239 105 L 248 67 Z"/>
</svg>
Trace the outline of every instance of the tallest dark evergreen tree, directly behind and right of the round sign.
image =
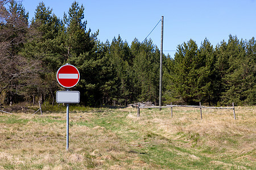
<svg viewBox="0 0 256 170">
<path fill-rule="evenodd" d="M 84 6 L 79 6 L 76 1 L 69 8 L 68 15 L 64 14 L 64 23 L 67 25 L 66 59 L 80 71 L 80 82 L 76 89 L 81 93 L 81 103 L 94 107 L 101 104 L 99 101 L 103 93 L 108 93 L 108 84 L 113 83 L 109 80 L 112 70 L 105 57 L 108 46 L 97 41 L 98 31 L 86 31 Z"/>
</svg>

